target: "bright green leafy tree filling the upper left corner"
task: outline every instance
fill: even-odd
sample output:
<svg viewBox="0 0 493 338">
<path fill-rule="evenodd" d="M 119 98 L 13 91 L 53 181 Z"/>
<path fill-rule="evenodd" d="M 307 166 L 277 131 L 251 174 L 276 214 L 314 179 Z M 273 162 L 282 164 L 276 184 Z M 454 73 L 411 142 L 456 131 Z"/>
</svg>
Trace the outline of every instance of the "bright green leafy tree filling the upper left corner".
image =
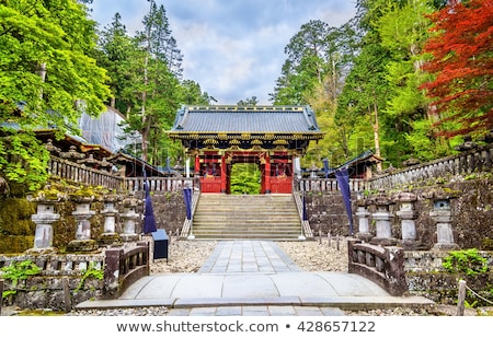
<svg viewBox="0 0 493 338">
<path fill-rule="evenodd" d="M 89 57 L 96 34 L 84 4 L 5 0 L 0 18 L 0 171 L 34 190 L 47 178 L 48 154 L 33 131 L 77 131 L 82 112 L 104 110 L 108 78 Z"/>
</svg>

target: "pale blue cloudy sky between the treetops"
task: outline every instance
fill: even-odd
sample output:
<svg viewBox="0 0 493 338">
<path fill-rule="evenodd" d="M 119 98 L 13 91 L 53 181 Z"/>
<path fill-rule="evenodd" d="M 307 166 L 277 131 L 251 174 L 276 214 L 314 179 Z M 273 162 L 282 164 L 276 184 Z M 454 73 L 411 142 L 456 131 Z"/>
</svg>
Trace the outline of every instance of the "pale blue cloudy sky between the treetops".
<svg viewBox="0 0 493 338">
<path fill-rule="evenodd" d="M 129 35 L 142 30 L 147 0 L 94 0 L 100 28 L 118 12 Z M 302 24 L 337 27 L 355 15 L 354 0 L 156 0 L 164 4 L 183 58 L 183 78 L 197 82 L 217 104 L 268 93 L 286 60 L 284 48 Z"/>
</svg>

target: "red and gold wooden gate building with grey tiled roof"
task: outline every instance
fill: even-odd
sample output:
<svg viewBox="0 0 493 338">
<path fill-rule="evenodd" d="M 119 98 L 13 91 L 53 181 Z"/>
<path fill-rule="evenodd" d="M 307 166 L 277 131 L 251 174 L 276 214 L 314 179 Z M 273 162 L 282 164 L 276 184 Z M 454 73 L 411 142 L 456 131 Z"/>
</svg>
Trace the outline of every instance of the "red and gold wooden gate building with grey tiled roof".
<svg viewBox="0 0 493 338">
<path fill-rule="evenodd" d="M 290 194 L 294 159 L 323 138 L 308 106 L 183 106 L 169 132 L 194 159 L 203 193 L 230 193 L 236 163 L 255 163 L 261 194 Z"/>
</svg>

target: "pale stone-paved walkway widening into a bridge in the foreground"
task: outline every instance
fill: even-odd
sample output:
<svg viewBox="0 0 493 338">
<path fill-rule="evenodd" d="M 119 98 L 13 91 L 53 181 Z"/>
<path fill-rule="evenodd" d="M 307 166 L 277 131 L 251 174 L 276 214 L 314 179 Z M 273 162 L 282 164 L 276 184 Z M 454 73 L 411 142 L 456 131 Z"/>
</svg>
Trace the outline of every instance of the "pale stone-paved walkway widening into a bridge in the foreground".
<svg viewBox="0 0 493 338">
<path fill-rule="evenodd" d="M 219 242 L 197 273 L 153 275 L 118 300 L 77 308 L 168 306 L 170 315 L 343 315 L 343 308 L 433 304 L 391 296 L 354 273 L 307 272 L 271 241 Z"/>
</svg>

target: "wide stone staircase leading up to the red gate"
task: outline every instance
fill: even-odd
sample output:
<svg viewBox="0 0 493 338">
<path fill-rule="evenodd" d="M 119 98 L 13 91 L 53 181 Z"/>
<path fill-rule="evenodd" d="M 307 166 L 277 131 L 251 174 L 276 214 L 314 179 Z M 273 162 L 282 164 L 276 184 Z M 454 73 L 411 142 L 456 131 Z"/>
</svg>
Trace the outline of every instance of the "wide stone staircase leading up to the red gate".
<svg viewBox="0 0 493 338">
<path fill-rule="evenodd" d="M 291 195 L 200 194 L 193 234 L 197 240 L 297 241 L 301 221 Z"/>
</svg>

